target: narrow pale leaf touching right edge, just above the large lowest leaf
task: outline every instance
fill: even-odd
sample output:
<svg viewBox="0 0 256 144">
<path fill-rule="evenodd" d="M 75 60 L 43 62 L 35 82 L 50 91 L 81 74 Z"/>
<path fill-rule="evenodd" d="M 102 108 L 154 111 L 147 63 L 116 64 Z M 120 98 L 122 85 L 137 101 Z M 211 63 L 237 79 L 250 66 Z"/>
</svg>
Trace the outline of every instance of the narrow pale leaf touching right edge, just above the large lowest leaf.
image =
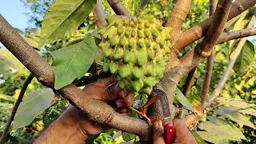
<svg viewBox="0 0 256 144">
<path fill-rule="evenodd" d="M 220 108 L 215 109 L 214 113 L 222 115 L 225 118 L 229 118 L 234 122 L 238 122 L 238 124 L 249 126 L 255 129 L 254 124 L 250 122 L 249 118 L 246 118 L 246 116 L 244 116 L 243 114 L 238 113 L 238 110 L 232 107 L 221 106 Z"/>
</svg>

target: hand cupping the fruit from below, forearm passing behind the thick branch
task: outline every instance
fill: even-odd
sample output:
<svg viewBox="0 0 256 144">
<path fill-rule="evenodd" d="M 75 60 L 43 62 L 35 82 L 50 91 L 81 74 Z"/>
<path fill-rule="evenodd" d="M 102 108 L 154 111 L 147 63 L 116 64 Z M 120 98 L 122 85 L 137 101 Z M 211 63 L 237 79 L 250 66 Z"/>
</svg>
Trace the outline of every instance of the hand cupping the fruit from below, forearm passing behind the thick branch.
<svg viewBox="0 0 256 144">
<path fill-rule="evenodd" d="M 125 90 L 118 88 L 116 82 L 112 78 L 102 79 L 86 86 L 82 90 L 85 97 L 98 99 L 108 103 L 120 114 L 129 114 L 129 106 L 134 102 L 134 94 L 126 94 Z M 86 115 L 82 114 L 74 106 L 70 106 L 65 111 L 66 117 L 72 118 L 78 130 L 82 134 L 99 134 L 102 130 L 106 130 L 106 126 L 91 122 Z"/>
</svg>

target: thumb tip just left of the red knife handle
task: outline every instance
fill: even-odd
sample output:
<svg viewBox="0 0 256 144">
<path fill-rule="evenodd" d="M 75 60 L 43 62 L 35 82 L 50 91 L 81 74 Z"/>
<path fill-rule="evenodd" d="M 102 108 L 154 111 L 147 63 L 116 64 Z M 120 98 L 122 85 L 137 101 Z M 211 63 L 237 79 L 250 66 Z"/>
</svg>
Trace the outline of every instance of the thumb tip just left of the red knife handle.
<svg viewBox="0 0 256 144">
<path fill-rule="evenodd" d="M 164 128 L 162 122 L 154 122 L 153 124 L 153 143 L 154 144 L 165 144 L 164 139 Z"/>
</svg>

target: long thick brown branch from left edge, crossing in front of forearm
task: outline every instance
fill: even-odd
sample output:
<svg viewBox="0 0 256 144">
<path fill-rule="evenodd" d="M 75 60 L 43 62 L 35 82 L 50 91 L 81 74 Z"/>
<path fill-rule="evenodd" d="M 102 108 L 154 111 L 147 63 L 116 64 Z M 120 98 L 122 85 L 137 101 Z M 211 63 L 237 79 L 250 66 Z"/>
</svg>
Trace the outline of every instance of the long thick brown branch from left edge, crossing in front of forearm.
<svg viewBox="0 0 256 144">
<path fill-rule="evenodd" d="M 40 55 L 0 16 L 0 42 L 32 74 L 46 86 L 54 88 L 54 70 Z M 72 84 L 60 90 L 62 96 L 74 106 L 83 110 L 95 122 L 138 135 L 150 135 L 150 127 L 138 118 L 129 118 L 114 110 L 106 103 L 85 97 L 82 90 Z"/>
</svg>

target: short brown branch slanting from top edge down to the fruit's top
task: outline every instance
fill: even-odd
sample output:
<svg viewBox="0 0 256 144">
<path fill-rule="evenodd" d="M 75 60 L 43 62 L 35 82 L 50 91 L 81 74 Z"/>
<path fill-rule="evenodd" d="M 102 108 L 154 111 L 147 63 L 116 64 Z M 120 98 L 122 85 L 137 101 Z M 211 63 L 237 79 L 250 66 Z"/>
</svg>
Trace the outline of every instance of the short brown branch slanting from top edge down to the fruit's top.
<svg viewBox="0 0 256 144">
<path fill-rule="evenodd" d="M 107 2 L 109 2 L 115 14 L 131 17 L 130 12 L 126 10 L 125 6 L 122 5 L 122 2 L 120 0 L 107 0 Z"/>
</svg>

